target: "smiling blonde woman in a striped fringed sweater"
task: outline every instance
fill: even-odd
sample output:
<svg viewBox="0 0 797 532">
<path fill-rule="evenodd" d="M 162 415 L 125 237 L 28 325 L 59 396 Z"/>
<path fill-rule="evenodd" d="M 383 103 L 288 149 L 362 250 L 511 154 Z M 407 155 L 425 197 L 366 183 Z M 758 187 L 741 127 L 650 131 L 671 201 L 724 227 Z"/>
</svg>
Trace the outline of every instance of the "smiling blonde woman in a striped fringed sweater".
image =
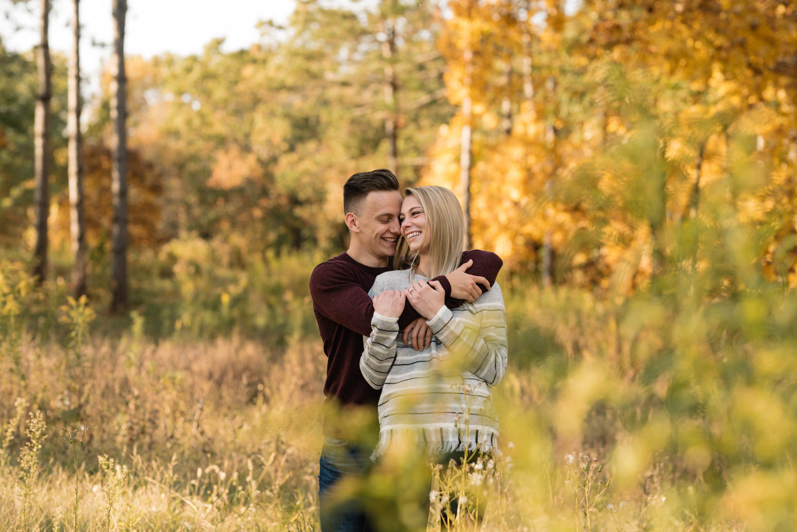
<svg viewBox="0 0 797 532">
<path fill-rule="evenodd" d="M 374 457 L 402 444 L 427 456 L 473 456 L 496 447 L 492 386 L 506 371 L 506 315 L 493 284 L 473 303 L 449 310 L 436 281 L 459 267 L 465 223 L 457 198 L 441 186 L 406 189 L 399 215 L 396 268 L 375 280 L 375 314 L 360 370 L 379 398 Z M 398 316 L 409 302 L 434 338 L 426 350 L 398 342 Z"/>
</svg>

